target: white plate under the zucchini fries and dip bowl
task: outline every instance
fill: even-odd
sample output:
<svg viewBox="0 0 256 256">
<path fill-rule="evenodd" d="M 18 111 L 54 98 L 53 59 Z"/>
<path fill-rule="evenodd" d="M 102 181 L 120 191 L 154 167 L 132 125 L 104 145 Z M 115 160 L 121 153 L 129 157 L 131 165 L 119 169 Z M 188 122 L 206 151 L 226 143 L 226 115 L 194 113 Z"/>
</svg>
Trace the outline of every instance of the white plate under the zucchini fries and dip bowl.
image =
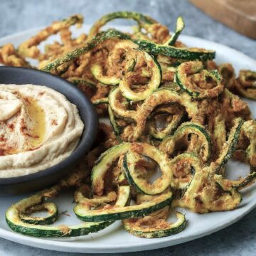
<svg viewBox="0 0 256 256">
<path fill-rule="evenodd" d="M 84 28 L 87 31 L 88 27 L 85 26 Z M 123 31 L 127 31 L 127 27 L 117 28 Z M 18 46 L 19 43 L 23 42 L 30 36 L 33 36 L 37 31 L 38 29 L 32 29 L 21 33 L 16 33 L 12 36 L 1 38 L 0 46 L 9 42 L 14 43 L 15 46 Z M 78 33 L 78 31 L 76 31 L 76 33 Z M 187 46 L 197 46 L 216 50 L 216 61 L 218 63 L 233 63 L 237 73 L 241 68 L 255 70 L 256 61 L 247 57 L 243 53 L 238 52 L 237 50 L 233 50 L 227 46 L 222 46 L 218 43 L 213 43 L 191 36 L 181 36 L 180 39 L 183 41 L 183 43 L 186 43 Z M 53 40 L 53 38 L 51 40 Z M 256 117 L 256 102 L 252 102 L 250 100 L 247 100 L 247 102 L 251 107 L 253 116 Z M 247 166 L 235 161 L 230 161 L 228 164 L 228 169 L 233 170 L 232 174 L 230 174 L 230 178 L 238 178 L 239 176 L 245 175 L 246 170 L 248 171 Z M 216 232 L 222 228 L 227 227 L 228 225 L 235 223 L 245 214 L 249 213 L 252 208 L 255 208 L 256 185 L 251 186 L 242 192 L 242 203 L 235 210 L 200 215 L 191 213 L 189 210 L 180 209 L 181 212 L 186 213 L 186 218 L 188 219 L 188 225 L 186 229 L 181 233 L 167 238 L 151 240 L 137 238 L 133 235 L 129 235 L 129 233 L 127 233 L 122 228 L 122 225 L 119 222 L 114 223 L 99 233 L 94 233 L 80 238 L 41 239 L 31 238 L 26 235 L 14 233 L 6 225 L 4 213 L 12 203 L 15 203 L 25 196 L 26 195 L 0 197 L 0 237 L 14 242 L 19 242 L 23 245 L 31 245 L 34 247 L 65 252 L 132 252 L 176 245 L 188 240 L 201 238 L 204 235 L 209 235 L 210 233 Z M 55 225 L 60 225 L 60 223 L 79 223 L 79 220 L 75 218 L 75 215 L 73 215 L 74 204 L 72 203 L 72 195 L 60 194 L 60 197 L 55 201 L 59 207 L 60 213 L 67 210 L 70 214 L 70 216 L 60 215 L 60 218 L 58 222 L 55 223 Z"/>
</svg>

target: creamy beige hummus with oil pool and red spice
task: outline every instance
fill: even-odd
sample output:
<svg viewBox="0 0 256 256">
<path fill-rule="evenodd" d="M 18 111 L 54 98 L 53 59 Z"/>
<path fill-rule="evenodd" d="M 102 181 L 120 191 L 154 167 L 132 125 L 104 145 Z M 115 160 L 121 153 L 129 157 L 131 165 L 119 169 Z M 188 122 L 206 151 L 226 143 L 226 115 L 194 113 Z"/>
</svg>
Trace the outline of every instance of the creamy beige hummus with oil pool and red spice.
<svg viewBox="0 0 256 256">
<path fill-rule="evenodd" d="M 78 109 L 41 85 L 0 85 L 0 178 L 47 169 L 67 158 L 82 135 Z"/>
</svg>

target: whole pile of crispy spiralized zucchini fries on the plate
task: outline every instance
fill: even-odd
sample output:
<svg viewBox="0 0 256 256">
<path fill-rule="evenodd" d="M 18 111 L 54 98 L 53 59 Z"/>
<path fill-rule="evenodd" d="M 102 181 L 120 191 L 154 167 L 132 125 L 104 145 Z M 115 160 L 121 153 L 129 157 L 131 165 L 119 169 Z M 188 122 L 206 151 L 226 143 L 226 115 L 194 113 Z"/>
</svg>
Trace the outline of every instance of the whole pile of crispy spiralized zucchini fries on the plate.
<svg viewBox="0 0 256 256">
<path fill-rule="evenodd" d="M 101 31 L 116 18 L 136 21 L 133 33 Z M 167 221 L 176 206 L 196 213 L 235 209 L 240 190 L 256 180 L 256 124 L 237 96 L 256 100 L 256 73 L 240 70 L 235 78 L 230 63 L 213 61 L 214 50 L 184 46 L 178 41 L 181 16 L 172 36 L 154 18 L 117 11 L 73 38 L 70 26 L 82 21 L 70 16 L 18 48 L 0 48 L 4 65 L 31 68 L 26 58 L 34 58 L 38 69 L 80 87 L 112 125 L 100 124 L 95 147 L 73 174 L 11 206 L 9 227 L 37 237 L 70 237 L 122 220 L 132 235 L 161 238 L 186 228 L 183 213 L 176 213 L 175 223 Z M 56 33 L 60 42 L 41 52 L 38 45 Z M 226 178 L 231 158 L 249 165 L 250 174 Z M 75 188 L 74 212 L 82 223 L 49 225 L 58 219 L 50 200 L 67 188 Z M 41 210 L 48 215 L 30 215 Z"/>
</svg>

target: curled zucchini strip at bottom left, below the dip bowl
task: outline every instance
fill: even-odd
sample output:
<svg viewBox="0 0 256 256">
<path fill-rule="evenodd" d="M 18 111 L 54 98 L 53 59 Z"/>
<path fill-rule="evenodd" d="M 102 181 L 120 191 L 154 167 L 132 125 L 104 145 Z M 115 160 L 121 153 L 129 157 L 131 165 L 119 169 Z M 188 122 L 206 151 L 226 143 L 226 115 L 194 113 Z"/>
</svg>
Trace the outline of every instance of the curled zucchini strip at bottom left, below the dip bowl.
<svg viewBox="0 0 256 256">
<path fill-rule="evenodd" d="M 55 206 L 54 203 L 45 203 L 45 201 L 48 198 L 56 196 L 63 188 L 80 186 L 81 181 L 86 175 L 85 171 L 75 172 L 68 176 L 68 178 L 61 180 L 57 185 L 15 203 L 6 210 L 6 223 L 17 233 L 43 238 L 62 238 L 87 235 L 107 228 L 107 226 L 111 225 L 113 222 L 81 223 L 79 225 L 71 226 L 45 225 L 54 223 L 58 218 L 57 206 Z M 29 212 L 30 210 L 40 210 L 43 208 L 53 210 L 53 213 L 41 218 L 26 215 L 26 212 Z"/>
</svg>

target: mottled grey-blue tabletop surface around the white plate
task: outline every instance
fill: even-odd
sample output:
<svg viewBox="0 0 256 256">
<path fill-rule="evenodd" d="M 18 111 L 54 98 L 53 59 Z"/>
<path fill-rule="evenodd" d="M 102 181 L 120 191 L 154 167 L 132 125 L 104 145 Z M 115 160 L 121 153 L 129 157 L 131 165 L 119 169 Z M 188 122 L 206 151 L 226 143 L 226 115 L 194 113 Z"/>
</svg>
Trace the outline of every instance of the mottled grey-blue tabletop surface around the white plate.
<svg viewBox="0 0 256 256">
<path fill-rule="evenodd" d="M 223 43 L 256 59 L 256 41 L 214 21 L 186 0 L 1 0 L 0 9 L 0 37 L 28 28 L 45 26 L 54 20 L 76 13 L 85 16 L 85 23 L 93 23 L 102 14 L 111 11 L 141 11 L 166 24 L 172 30 L 177 16 L 182 15 L 186 21 L 184 34 Z M 124 21 L 119 20 L 117 23 L 123 24 Z M 164 249 L 137 252 L 136 255 L 256 255 L 255 218 L 256 209 L 238 223 L 213 235 Z M 133 254 L 132 252 L 125 255 Z M 6 255 L 68 256 L 74 254 L 41 250 L 0 238 L 0 256 Z"/>
</svg>

